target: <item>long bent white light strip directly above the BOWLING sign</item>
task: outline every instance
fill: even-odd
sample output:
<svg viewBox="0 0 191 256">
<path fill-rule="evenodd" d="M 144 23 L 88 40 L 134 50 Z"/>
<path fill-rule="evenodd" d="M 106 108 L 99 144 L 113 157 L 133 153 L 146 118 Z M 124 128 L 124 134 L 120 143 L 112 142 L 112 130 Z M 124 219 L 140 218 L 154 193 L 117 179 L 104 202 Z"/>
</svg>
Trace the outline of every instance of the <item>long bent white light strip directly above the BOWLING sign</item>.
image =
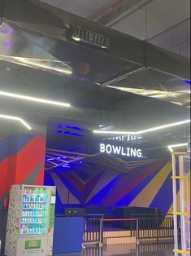
<svg viewBox="0 0 191 256">
<path fill-rule="evenodd" d="M 105 135 L 142 135 L 154 130 L 163 130 L 168 127 L 173 127 L 173 126 L 180 126 L 184 125 L 190 122 L 190 119 L 186 119 L 184 121 L 176 121 L 171 124 L 163 125 L 163 126 L 156 126 L 150 129 L 146 130 L 139 130 L 139 131 L 119 131 L 119 130 L 93 130 L 93 133 L 95 134 L 105 134 Z"/>
</svg>

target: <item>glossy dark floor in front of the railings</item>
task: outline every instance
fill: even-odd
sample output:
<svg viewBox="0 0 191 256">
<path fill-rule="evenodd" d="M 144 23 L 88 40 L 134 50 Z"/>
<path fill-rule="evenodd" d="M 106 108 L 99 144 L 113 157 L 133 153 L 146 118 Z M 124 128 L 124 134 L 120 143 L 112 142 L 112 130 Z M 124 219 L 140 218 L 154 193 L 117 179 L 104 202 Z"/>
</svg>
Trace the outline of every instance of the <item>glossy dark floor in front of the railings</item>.
<svg viewBox="0 0 191 256">
<path fill-rule="evenodd" d="M 54 254 L 54 256 L 173 256 L 173 248 L 173 243 L 107 245 L 103 248 L 87 248 L 81 254 Z"/>
</svg>

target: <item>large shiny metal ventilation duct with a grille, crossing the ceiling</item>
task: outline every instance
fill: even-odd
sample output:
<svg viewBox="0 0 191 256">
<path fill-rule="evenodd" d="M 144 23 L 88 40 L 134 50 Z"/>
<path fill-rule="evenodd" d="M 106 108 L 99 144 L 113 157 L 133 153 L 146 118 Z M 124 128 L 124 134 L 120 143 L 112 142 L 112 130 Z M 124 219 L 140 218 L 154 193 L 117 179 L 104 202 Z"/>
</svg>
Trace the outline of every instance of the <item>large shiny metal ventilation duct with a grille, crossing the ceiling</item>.
<svg viewBox="0 0 191 256">
<path fill-rule="evenodd" d="M 0 8 L 0 60 L 189 104 L 189 59 L 37 0 Z"/>
</svg>

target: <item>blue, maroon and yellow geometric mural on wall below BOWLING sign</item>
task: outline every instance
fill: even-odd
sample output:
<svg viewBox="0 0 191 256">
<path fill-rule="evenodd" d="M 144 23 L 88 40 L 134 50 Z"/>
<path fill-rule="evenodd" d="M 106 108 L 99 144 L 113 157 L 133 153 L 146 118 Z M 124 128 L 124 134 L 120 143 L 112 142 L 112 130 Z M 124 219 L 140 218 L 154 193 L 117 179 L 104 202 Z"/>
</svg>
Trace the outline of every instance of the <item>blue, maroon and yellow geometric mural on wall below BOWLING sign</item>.
<svg viewBox="0 0 191 256">
<path fill-rule="evenodd" d="M 93 164 L 96 170 L 91 171 L 87 166 Z M 72 165 L 47 170 L 45 183 L 57 186 L 62 205 L 145 206 L 167 214 L 172 204 L 169 160 L 129 162 L 106 154 L 87 155 Z"/>
</svg>

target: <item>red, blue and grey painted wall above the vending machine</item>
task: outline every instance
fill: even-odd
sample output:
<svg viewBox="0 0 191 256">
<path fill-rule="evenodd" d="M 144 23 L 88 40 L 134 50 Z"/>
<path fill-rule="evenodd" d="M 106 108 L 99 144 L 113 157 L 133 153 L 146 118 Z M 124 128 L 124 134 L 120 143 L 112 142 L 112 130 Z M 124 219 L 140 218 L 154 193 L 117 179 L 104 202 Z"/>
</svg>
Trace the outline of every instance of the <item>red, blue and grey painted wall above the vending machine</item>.
<svg viewBox="0 0 191 256">
<path fill-rule="evenodd" d="M 12 135 L 0 139 L 0 200 L 11 184 L 43 184 L 46 137 Z"/>
</svg>

